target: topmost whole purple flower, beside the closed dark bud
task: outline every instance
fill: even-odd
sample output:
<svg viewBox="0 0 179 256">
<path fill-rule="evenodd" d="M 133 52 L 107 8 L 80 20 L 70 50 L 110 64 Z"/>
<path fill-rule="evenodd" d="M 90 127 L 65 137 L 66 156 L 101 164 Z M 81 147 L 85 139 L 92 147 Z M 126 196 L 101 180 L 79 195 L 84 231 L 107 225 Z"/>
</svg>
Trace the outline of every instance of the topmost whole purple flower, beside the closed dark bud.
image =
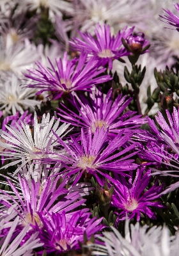
<svg viewBox="0 0 179 256">
<path fill-rule="evenodd" d="M 101 60 L 102 65 L 109 65 L 109 69 L 113 67 L 113 60 L 126 56 L 129 53 L 123 47 L 121 38 L 126 39 L 134 30 L 134 27 L 127 30 L 127 27 L 123 31 L 119 31 L 116 36 L 111 35 L 110 26 L 103 24 L 97 25 L 95 28 L 96 38 L 93 38 L 89 33 L 82 33 L 79 31 L 82 40 L 74 38 L 74 42 L 70 42 L 73 49 L 76 51 L 88 52 L 92 56 L 95 56 L 96 60 Z"/>
</svg>

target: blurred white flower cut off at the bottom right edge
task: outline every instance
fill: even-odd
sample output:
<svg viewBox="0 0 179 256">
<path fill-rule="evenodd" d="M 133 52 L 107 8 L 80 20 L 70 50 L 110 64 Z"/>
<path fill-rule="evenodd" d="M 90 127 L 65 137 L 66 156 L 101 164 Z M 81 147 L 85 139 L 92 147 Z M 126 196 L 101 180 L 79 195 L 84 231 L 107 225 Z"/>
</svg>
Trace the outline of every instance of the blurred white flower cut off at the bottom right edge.
<svg viewBox="0 0 179 256">
<path fill-rule="evenodd" d="M 92 255 L 103 256 L 178 256 L 178 234 L 169 236 L 169 229 L 147 225 L 141 227 L 139 223 L 129 225 L 125 222 L 125 237 L 111 226 L 113 232 L 103 232 L 103 237 L 98 238 L 103 244 L 89 244 Z M 174 239 L 175 238 L 175 239 Z"/>
</svg>

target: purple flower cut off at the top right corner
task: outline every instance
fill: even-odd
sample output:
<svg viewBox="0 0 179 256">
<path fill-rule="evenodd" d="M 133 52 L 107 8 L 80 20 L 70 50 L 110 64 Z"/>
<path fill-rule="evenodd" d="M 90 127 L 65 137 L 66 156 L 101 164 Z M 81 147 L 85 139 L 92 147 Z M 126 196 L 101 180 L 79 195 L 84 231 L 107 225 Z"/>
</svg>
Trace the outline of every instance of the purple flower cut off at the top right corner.
<svg viewBox="0 0 179 256">
<path fill-rule="evenodd" d="M 177 12 L 179 12 L 179 4 L 173 4 L 177 10 Z M 176 30 L 179 31 L 179 17 L 176 16 L 174 13 L 172 13 L 171 11 L 169 11 L 168 9 L 163 9 L 164 12 L 166 12 L 166 14 L 164 14 L 164 16 L 159 15 L 162 19 L 162 21 L 166 22 L 167 24 L 171 25 L 171 26 L 175 26 Z"/>
</svg>

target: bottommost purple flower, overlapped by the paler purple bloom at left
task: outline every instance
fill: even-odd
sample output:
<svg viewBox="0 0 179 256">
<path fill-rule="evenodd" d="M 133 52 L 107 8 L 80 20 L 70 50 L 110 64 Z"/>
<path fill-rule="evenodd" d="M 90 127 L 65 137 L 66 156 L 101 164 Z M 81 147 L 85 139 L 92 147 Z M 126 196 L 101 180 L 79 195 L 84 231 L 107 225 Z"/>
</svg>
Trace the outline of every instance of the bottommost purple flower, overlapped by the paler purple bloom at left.
<svg viewBox="0 0 179 256">
<path fill-rule="evenodd" d="M 45 218 L 40 215 L 43 223 L 43 228 L 38 228 L 39 237 L 44 243 L 44 248 L 47 253 L 56 252 L 62 253 L 69 250 L 77 250 L 80 248 L 79 242 L 83 242 L 83 235 L 86 232 L 87 239 L 98 231 L 102 230 L 100 224 L 102 218 L 91 220 L 84 216 L 82 211 L 74 212 L 70 220 L 66 220 L 65 211 L 61 214 L 48 214 Z"/>
</svg>

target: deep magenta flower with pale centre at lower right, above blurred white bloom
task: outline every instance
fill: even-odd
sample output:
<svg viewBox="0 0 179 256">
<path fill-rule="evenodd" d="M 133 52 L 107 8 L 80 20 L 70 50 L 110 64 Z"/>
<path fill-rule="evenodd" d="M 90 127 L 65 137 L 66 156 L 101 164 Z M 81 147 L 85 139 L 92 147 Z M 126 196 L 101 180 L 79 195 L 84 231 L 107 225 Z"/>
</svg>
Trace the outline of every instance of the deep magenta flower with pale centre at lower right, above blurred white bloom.
<svg viewBox="0 0 179 256">
<path fill-rule="evenodd" d="M 132 173 L 130 173 L 128 181 L 121 176 L 120 181 L 114 183 L 111 204 L 121 210 L 120 213 L 116 212 L 118 214 L 117 222 L 125 220 L 126 214 L 130 220 L 136 216 L 137 221 L 140 220 L 141 213 L 149 218 L 156 218 L 155 213 L 149 207 L 163 207 L 161 202 L 153 202 L 153 200 L 159 198 L 164 184 L 158 186 L 158 181 L 156 181 L 152 188 L 144 192 L 151 180 L 150 173 L 149 170 L 144 173 L 144 168 L 138 168 L 133 182 Z"/>
</svg>

